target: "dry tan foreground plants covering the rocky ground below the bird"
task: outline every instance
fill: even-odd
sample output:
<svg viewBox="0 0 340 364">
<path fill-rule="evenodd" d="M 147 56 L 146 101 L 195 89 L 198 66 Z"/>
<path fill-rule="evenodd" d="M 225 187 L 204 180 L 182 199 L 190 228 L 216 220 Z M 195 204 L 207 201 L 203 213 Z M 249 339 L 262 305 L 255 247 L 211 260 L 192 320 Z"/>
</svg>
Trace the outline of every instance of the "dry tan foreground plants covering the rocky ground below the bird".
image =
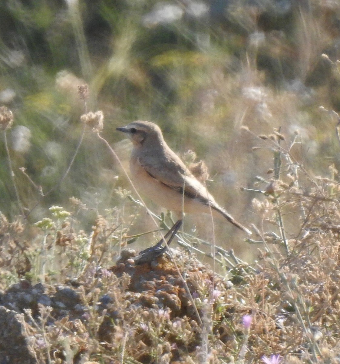
<svg viewBox="0 0 340 364">
<path fill-rule="evenodd" d="M 36 227 L 2 215 L 0 301 L 10 310 L 3 313 L 2 343 L 18 322 L 21 341 L 13 345 L 38 363 L 253 363 L 263 356 L 337 363 L 337 171 L 311 177 L 289 152 L 294 141 L 286 145 L 278 132 L 260 141 L 280 165 L 253 201 L 259 223 L 248 244 L 259 245 L 258 259 L 248 265 L 219 250 L 225 276 L 183 250 L 172 255 L 185 283 L 172 258 L 135 265 L 131 249 L 110 268 L 114 250 L 135 238 L 133 217 L 122 220 L 119 210 L 98 216 L 89 234 L 77 231 L 86 206 L 76 199 L 73 213 L 52 207 Z M 123 201 L 127 196 L 121 192 Z M 193 243 L 188 235 L 178 239 Z M 13 312 L 22 315 L 9 323 Z M 30 362 L 11 345 L 2 350 L 11 363 Z"/>
</svg>

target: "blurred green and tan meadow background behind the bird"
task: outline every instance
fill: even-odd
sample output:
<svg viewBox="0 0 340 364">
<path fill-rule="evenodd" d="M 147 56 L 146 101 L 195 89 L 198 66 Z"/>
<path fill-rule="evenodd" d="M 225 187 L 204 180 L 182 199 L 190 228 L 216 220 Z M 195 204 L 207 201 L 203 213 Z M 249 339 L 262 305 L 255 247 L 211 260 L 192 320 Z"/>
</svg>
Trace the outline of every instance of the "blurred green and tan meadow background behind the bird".
<svg viewBox="0 0 340 364">
<path fill-rule="evenodd" d="M 340 111 L 338 59 L 335 0 L 1 1 L 0 105 L 14 114 L 9 151 L 29 221 L 51 205 L 71 208 L 74 196 L 88 208 L 78 216 L 85 230 L 107 209 L 133 232 L 154 228 L 117 190 L 131 188 L 92 132 L 62 183 L 39 193 L 57 185 L 79 144 L 77 87 L 87 83 L 87 111 L 104 112 L 101 135 L 126 167 L 130 146 L 115 128 L 153 121 L 173 150 L 206 162 L 220 205 L 246 226 L 259 223 L 251 202 L 261 196 L 240 190 L 265 189 L 274 175 L 273 148 L 259 135 L 280 130 L 287 147 L 295 138 L 292 154 L 312 175 L 339 169 L 338 120 L 319 109 Z M 20 209 L 0 139 L 0 211 L 11 219 Z M 244 234 L 215 222 L 216 244 L 241 254 Z M 186 224 L 212 240 L 209 216 Z"/>
</svg>

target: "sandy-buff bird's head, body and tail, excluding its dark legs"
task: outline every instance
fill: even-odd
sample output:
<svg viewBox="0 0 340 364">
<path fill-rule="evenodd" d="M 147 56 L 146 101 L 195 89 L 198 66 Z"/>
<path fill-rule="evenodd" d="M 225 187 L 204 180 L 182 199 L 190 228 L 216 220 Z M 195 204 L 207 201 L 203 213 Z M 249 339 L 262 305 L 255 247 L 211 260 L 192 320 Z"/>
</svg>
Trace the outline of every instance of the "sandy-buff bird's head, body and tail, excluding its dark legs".
<svg viewBox="0 0 340 364">
<path fill-rule="evenodd" d="M 250 230 L 227 213 L 214 197 L 166 144 L 158 125 L 134 121 L 117 128 L 131 139 L 131 179 L 137 190 L 159 206 L 178 214 L 210 213 L 222 215 L 251 235 Z"/>
</svg>

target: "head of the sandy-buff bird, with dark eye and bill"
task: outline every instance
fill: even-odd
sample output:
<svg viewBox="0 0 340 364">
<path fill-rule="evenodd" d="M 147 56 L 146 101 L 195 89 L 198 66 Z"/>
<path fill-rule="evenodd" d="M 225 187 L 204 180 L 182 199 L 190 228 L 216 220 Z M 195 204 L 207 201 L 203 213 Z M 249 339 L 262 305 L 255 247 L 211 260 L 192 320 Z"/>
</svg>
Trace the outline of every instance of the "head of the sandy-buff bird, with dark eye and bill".
<svg viewBox="0 0 340 364">
<path fill-rule="evenodd" d="M 116 130 L 124 132 L 131 139 L 134 146 L 163 142 L 161 129 L 158 125 L 149 121 L 134 121 Z"/>
</svg>

